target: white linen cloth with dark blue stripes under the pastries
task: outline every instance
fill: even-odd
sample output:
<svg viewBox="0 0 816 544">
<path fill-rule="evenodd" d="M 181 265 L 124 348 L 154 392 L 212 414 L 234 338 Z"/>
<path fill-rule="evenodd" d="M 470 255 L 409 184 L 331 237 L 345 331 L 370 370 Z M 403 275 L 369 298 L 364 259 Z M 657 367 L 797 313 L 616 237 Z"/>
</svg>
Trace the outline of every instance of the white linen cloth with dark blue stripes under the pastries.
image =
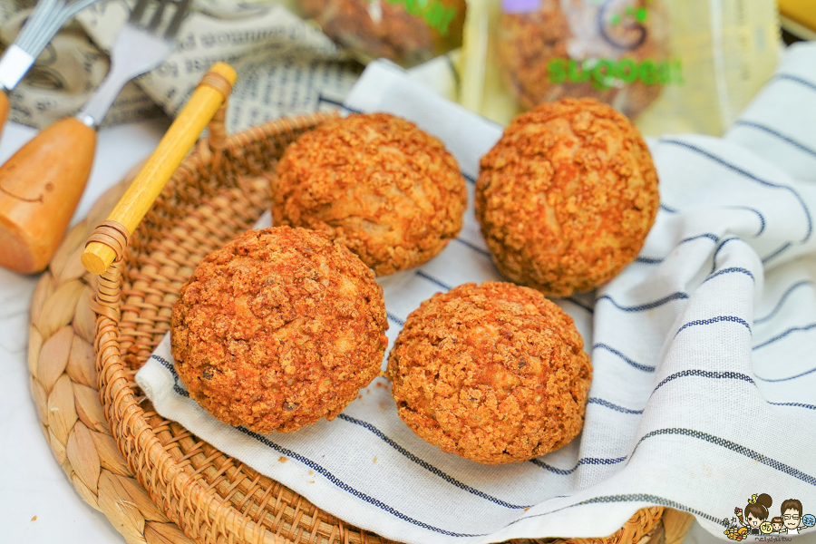
<svg viewBox="0 0 816 544">
<path fill-rule="evenodd" d="M 501 128 L 374 63 L 348 96 L 442 139 L 469 180 Z M 816 44 L 793 47 L 723 139 L 650 141 L 661 209 L 636 262 L 559 300 L 595 371 L 582 434 L 504 466 L 442 453 L 398 418 L 384 378 L 335 421 L 257 435 L 219 423 L 172 370 L 137 381 L 164 416 L 341 519 L 412 543 L 598 537 L 638 508 L 723 520 L 755 493 L 816 510 Z M 268 223 L 267 223 L 268 224 Z M 472 206 L 441 255 L 382 279 L 393 342 L 420 302 L 498 280 Z M 807 533 L 810 529 L 804 529 Z"/>
</svg>

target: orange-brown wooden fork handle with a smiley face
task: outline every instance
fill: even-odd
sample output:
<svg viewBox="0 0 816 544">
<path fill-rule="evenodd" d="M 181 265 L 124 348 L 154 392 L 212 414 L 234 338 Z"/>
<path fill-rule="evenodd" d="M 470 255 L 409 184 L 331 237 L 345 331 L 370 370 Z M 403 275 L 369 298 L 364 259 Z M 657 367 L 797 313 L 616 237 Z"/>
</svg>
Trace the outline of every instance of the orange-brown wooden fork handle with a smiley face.
<svg viewBox="0 0 816 544">
<path fill-rule="evenodd" d="M 63 119 L 0 167 L 0 266 L 32 273 L 48 265 L 83 196 L 95 150 L 96 131 Z"/>
</svg>

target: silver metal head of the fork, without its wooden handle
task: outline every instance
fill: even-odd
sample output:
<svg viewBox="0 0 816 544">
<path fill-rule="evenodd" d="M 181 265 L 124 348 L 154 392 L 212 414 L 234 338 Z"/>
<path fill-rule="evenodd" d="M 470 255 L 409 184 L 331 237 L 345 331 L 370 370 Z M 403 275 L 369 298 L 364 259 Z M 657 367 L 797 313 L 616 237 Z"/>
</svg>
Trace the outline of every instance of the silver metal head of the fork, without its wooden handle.
<svg viewBox="0 0 816 544">
<path fill-rule="evenodd" d="M 77 119 L 89 127 L 98 127 L 125 83 L 167 58 L 188 6 L 189 0 L 139 0 L 113 43 L 111 72 L 76 114 Z M 170 22 L 162 25 L 167 19 Z"/>
</svg>

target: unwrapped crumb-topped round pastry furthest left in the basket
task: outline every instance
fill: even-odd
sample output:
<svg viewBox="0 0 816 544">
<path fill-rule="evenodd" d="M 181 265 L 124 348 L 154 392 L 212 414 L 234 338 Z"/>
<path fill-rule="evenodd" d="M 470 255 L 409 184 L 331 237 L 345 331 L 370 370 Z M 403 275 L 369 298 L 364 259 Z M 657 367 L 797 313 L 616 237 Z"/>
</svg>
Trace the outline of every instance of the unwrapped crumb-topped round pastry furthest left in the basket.
<svg viewBox="0 0 816 544">
<path fill-rule="evenodd" d="M 191 398 L 224 423 L 291 432 L 343 411 L 380 373 L 383 290 L 348 249 L 303 228 L 250 230 L 205 257 L 173 306 Z"/>
</svg>

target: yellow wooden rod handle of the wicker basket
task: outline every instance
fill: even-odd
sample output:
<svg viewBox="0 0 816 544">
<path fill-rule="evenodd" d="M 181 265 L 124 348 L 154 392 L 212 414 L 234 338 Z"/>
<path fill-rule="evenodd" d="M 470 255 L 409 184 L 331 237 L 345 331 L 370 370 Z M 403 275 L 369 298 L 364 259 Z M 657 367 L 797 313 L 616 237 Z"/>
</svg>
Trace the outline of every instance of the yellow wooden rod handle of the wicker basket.
<svg viewBox="0 0 816 544">
<path fill-rule="evenodd" d="M 156 151 L 153 151 L 108 220 L 102 223 L 104 228 L 94 231 L 82 256 L 83 266 L 89 272 L 102 274 L 116 259 L 117 249 L 124 250 L 127 238 L 151 209 L 201 131 L 227 100 L 235 80 L 235 70 L 226 63 L 214 64 L 204 75 L 198 89 L 170 125 Z"/>
</svg>

